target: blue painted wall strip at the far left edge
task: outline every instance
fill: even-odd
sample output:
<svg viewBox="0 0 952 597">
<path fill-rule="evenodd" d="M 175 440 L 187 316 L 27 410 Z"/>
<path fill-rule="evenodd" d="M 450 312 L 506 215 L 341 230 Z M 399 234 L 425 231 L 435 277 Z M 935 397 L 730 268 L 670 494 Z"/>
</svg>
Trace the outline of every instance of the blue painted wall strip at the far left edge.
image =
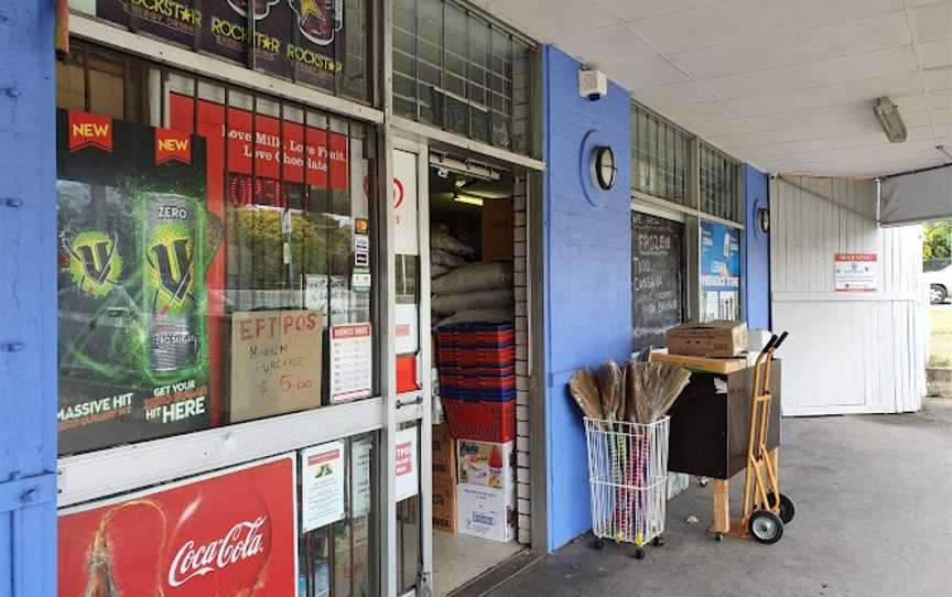
<svg viewBox="0 0 952 597">
<path fill-rule="evenodd" d="M 52 0 L 0 2 L 0 597 L 52 597 L 56 590 Z"/>
</svg>

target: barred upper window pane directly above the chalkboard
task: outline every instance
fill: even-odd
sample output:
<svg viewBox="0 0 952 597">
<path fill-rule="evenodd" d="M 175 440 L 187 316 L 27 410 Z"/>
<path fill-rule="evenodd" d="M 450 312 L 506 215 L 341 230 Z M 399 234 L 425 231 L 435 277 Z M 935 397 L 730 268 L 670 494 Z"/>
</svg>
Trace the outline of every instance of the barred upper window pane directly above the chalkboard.
<svg viewBox="0 0 952 597">
<path fill-rule="evenodd" d="M 691 137 L 645 108 L 631 108 L 631 186 L 639 193 L 684 205 Z"/>
</svg>

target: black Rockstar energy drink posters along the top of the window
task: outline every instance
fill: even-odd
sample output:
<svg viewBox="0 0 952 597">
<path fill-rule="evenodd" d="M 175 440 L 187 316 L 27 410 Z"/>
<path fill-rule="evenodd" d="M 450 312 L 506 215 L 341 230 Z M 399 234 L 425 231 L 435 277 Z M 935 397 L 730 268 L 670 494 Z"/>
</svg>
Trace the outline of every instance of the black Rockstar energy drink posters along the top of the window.
<svg viewBox="0 0 952 597">
<path fill-rule="evenodd" d="M 344 0 L 97 0 L 96 13 L 242 64 L 253 47 L 257 69 L 316 87 L 344 70 Z"/>
</svg>

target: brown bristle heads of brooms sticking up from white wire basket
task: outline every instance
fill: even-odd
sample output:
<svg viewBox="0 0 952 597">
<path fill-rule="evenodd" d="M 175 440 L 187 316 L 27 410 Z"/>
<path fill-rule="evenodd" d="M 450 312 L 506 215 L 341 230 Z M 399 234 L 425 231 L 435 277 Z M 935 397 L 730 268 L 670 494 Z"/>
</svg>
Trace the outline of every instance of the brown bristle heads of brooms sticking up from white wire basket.
<svg viewBox="0 0 952 597">
<path fill-rule="evenodd" d="M 588 419 L 647 425 L 671 410 L 690 380 L 691 373 L 672 362 L 632 360 L 619 367 L 608 359 L 597 373 L 576 371 L 569 391 Z"/>
</svg>

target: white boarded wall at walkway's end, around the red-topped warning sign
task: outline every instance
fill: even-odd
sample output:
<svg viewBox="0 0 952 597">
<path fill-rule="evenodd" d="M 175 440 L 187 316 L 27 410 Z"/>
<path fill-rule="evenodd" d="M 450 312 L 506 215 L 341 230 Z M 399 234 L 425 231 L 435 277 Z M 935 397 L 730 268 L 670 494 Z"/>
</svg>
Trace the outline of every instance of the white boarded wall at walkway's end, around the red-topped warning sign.
<svg viewBox="0 0 952 597">
<path fill-rule="evenodd" d="M 770 181 L 772 327 L 789 330 L 783 414 L 895 413 L 926 392 L 918 226 L 879 228 L 872 181 Z M 834 291 L 835 253 L 877 253 L 879 289 Z"/>
</svg>

